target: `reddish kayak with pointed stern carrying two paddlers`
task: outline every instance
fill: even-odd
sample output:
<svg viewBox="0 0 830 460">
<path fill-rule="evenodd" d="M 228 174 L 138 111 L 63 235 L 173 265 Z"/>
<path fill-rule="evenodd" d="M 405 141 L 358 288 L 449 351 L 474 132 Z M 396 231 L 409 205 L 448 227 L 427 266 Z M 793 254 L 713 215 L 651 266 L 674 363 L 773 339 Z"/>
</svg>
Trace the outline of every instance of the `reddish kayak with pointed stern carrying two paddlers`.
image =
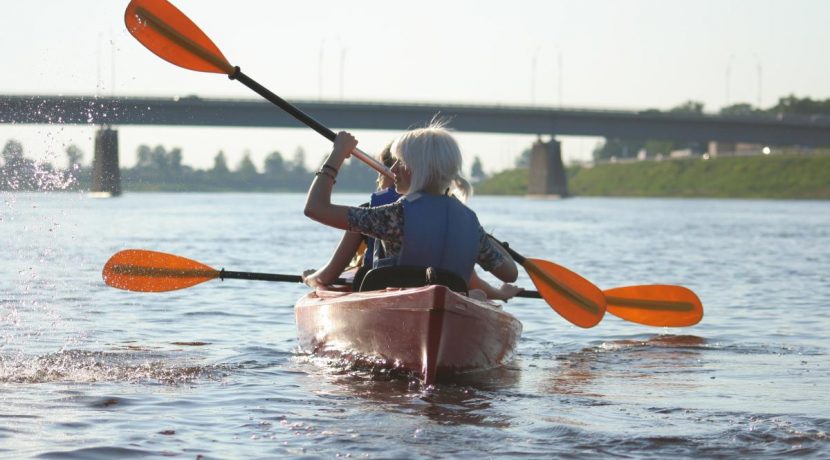
<svg viewBox="0 0 830 460">
<path fill-rule="evenodd" d="M 502 366 L 522 333 L 498 304 L 442 285 L 317 289 L 294 313 L 301 352 L 403 371 L 425 385 Z"/>
</svg>

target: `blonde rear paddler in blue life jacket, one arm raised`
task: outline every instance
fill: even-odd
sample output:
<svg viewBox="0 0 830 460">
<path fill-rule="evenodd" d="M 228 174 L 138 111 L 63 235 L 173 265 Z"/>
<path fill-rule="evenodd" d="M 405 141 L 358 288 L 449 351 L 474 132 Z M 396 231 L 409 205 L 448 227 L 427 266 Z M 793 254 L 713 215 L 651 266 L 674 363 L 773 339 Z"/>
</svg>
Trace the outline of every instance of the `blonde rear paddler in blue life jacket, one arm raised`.
<svg viewBox="0 0 830 460">
<path fill-rule="evenodd" d="M 331 203 L 337 172 L 356 146 L 357 140 L 351 134 L 337 135 L 331 154 L 309 188 L 306 216 L 376 238 L 385 257 L 374 260 L 374 267 L 436 267 L 455 273 L 475 289 L 481 281 L 473 271 L 478 263 L 506 283 L 516 280 L 518 271 L 512 258 L 460 201 L 472 193 L 472 187 L 461 175 L 461 152 L 446 129 L 433 123 L 404 133 L 393 142 L 395 187 L 404 196 L 383 206 L 362 208 Z M 515 295 L 518 288 L 513 288 L 503 295 Z"/>
</svg>

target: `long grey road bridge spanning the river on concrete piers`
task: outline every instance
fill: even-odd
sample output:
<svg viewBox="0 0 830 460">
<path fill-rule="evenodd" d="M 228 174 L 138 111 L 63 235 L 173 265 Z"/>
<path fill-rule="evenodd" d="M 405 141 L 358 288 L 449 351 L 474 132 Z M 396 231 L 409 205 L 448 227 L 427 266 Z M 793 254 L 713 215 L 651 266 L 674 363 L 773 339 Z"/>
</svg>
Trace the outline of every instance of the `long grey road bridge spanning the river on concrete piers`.
<svg viewBox="0 0 830 460">
<path fill-rule="evenodd" d="M 724 116 L 507 105 L 453 105 L 349 101 L 293 101 L 300 110 L 337 129 L 403 131 L 434 115 L 451 120 L 462 132 L 673 139 L 702 142 L 748 142 L 767 145 L 830 145 L 828 116 Z M 258 99 L 160 97 L 0 96 L 0 123 L 167 125 L 224 127 L 301 127 L 300 122 Z M 111 134 L 102 134 L 109 132 Z M 109 137 L 107 137 L 109 136 Z M 115 136 L 115 137 L 113 137 Z M 96 159 L 115 149 L 117 133 L 99 131 Z M 104 147 L 106 145 L 107 147 Z M 538 149 L 537 149 L 538 147 Z M 537 152 L 538 150 L 538 152 Z M 108 154 L 112 156 L 112 154 Z M 551 193 L 564 182 L 559 143 L 534 146 L 531 188 Z M 537 157 L 539 158 L 537 160 Z M 102 167 L 112 172 L 110 165 Z M 538 167 L 538 168 L 537 168 Z M 552 167 L 553 171 L 549 171 Z M 106 173 L 102 171 L 102 174 Z M 533 174 L 538 177 L 534 178 Z M 96 171 L 96 176 L 98 175 Z M 106 181 L 105 181 L 106 182 Z M 111 182 L 111 181 L 110 181 Z M 553 190 L 556 191 L 556 190 Z M 566 191 L 564 191 L 566 193 Z"/>
</svg>

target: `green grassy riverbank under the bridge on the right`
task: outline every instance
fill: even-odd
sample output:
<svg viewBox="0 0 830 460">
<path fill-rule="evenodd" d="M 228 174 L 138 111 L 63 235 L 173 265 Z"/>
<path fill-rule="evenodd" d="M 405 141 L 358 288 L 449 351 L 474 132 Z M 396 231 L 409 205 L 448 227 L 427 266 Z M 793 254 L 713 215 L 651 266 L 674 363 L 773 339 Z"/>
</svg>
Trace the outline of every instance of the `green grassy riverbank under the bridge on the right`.
<svg viewBox="0 0 830 460">
<path fill-rule="evenodd" d="M 830 199 L 830 155 L 721 156 L 567 168 L 574 196 Z M 476 193 L 524 195 L 527 171 L 499 173 Z"/>
</svg>

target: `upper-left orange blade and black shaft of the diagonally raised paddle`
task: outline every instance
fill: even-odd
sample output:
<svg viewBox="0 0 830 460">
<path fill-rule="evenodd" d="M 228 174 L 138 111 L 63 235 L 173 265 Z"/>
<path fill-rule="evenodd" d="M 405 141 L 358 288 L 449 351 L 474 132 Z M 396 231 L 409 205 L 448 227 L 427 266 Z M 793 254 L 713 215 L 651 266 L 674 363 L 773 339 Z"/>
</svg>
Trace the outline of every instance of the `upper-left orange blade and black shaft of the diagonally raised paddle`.
<svg viewBox="0 0 830 460">
<path fill-rule="evenodd" d="M 232 66 L 213 41 L 167 0 L 132 0 L 124 12 L 124 23 L 133 37 L 165 61 L 185 69 L 225 74 L 334 142 L 334 131 Z M 352 154 L 377 172 L 394 178 L 389 168 L 360 149 L 355 148 Z"/>
</svg>

